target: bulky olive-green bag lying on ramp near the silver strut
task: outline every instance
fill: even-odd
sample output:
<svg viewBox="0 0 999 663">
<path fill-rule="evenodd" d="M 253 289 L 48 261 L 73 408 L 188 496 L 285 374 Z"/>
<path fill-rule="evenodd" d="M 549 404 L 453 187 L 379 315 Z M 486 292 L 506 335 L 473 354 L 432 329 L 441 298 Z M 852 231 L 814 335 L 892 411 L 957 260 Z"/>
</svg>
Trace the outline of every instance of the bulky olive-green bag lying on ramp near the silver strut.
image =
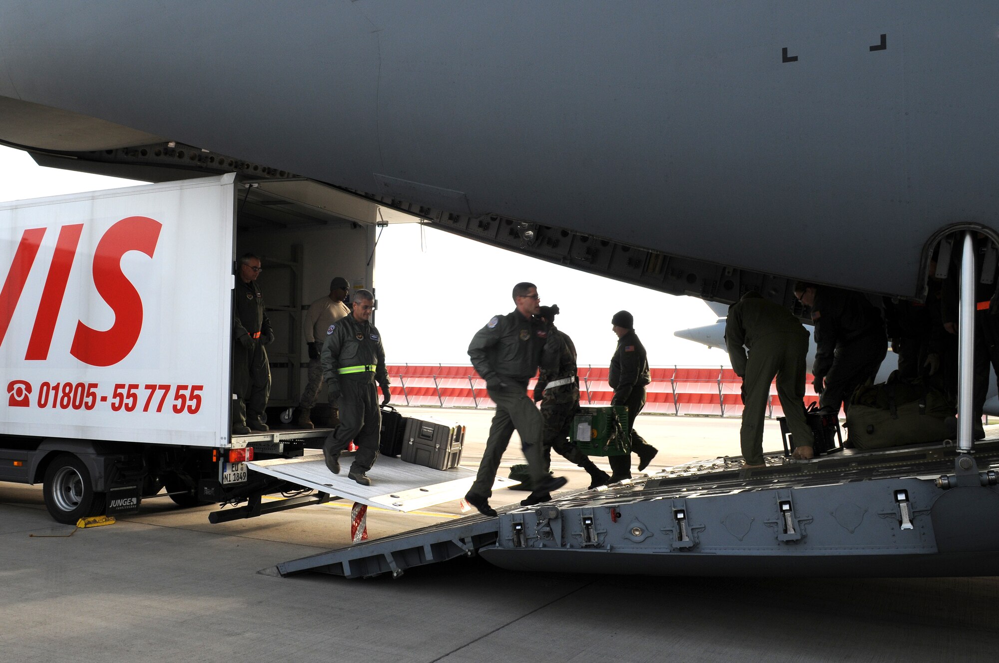
<svg viewBox="0 0 999 663">
<path fill-rule="evenodd" d="M 956 411 L 942 391 L 897 371 L 882 384 L 861 384 L 849 403 L 848 443 L 858 449 L 938 442 L 957 430 Z"/>
</svg>

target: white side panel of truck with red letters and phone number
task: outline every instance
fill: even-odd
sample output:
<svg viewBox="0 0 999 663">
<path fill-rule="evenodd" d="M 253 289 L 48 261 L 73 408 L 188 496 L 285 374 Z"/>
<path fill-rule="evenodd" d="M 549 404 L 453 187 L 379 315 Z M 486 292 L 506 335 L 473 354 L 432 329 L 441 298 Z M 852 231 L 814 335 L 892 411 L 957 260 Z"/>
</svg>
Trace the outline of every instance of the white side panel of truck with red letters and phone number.
<svg viewBox="0 0 999 663">
<path fill-rule="evenodd" d="M 228 437 L 228 176 L 0 205 L 0 424 L 215 446 Z"/>
</svg>

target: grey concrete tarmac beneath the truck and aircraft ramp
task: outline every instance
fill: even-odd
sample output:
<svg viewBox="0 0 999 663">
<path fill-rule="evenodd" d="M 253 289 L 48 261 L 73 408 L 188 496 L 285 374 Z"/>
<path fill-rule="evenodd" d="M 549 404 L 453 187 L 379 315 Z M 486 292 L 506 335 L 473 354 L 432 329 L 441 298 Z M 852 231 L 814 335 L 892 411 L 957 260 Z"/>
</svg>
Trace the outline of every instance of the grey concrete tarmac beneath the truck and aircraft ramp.
<svg viewBox="0 0 999 663">
<path fill-rule="evenodd" d="M 465 423 L 463 464 L 478 466 L 491 412 L 413 411 Z M 738 425 L 642 416 L 636 428 L 660 449 L 655 469 L 737 454 Z M 523 461 L 518 446 L 505 466 Z M 478 558 L 398 580 L 280 578 L 258 571 L 347 543 L 350 505 L 212 525 L 215 508 L 160 497 L 74 531 L 51 520 L 40 486 L 0 482 L 0 661 L 980 661 L 999 645 L 999 578 L 545 576 Z M 460 514 L 457 502 L 370 509 L 368 526 L 385 536 Z"/>
</svg>

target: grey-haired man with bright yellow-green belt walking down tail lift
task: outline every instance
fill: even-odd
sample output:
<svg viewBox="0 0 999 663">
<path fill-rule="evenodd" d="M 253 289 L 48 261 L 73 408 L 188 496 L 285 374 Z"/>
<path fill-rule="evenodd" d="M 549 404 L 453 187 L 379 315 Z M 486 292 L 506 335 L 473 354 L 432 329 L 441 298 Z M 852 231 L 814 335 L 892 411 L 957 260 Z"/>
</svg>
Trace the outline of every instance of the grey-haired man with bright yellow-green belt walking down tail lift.
<svg viewBox="0 0 999 663">
<path fill-rule="evenodd" d="M 371 324 L 375 296 L 366 290 L 355 291 L 351 303 L 351 315 L 327 328 L 320 352 L 330 405 L 340 410 L 340 425 L 326 438 L 323 455 L 330 471 L 339 474 L 340 453 L 354 440 L 358 452 L 347 476 L 361 485 L 371 485 L 368 470 L 378 458 L 382 428 L 375 383 L 382 386 L 383 405 L 389 404 L 392 396 L 382 334 Z"/>
</svg>

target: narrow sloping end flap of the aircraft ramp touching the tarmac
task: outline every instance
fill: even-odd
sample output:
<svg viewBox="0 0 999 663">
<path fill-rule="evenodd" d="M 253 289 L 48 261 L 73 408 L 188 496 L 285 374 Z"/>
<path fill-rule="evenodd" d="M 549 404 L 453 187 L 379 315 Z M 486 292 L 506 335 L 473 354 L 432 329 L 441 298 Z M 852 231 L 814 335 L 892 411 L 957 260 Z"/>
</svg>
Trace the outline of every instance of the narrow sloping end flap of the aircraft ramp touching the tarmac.
<svg viewBox="0 0 999 663">
<path fill-rule="evenodd" d="M 406 569 L 476 554 L 484 545 L 496 543 L 500 519 L 482 515 L 415 529 L 395 536 L 351 545 L 317 555 L 282 562 L 262 573 L 282 576 L 316 571 L 345 578 L 368 578 L 392 573 L 398 578 Z"/>
</svg>

